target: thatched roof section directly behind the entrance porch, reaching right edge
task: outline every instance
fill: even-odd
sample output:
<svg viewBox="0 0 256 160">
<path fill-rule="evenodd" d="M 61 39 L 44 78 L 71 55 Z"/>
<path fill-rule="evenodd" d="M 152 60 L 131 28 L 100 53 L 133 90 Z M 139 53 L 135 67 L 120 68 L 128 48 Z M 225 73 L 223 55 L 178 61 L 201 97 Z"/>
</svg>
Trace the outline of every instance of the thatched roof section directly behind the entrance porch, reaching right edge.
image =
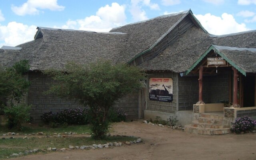
<svg viewBox="0 0 256 160">
<path fill-rule="evenodd" d="M 204 54 L 211 44 L 227 47 L 256 48 L 256 30 L 214 36 L 203 32 L 200 28 L 193 27 L 156 58 L 146 61 L 140 66 L 145 70 L 185 72 Z M 240 58 L 246 58 L 246 56 L 240 56 Z M 248 68 L 251 68 L 250 72 L 252 72 L 253 67 L 251 66 L 255 63 L 241 63 L 246 61 L 247 59 L 241 59 L 241 61 L 236 60 L 234 62 L 241 66 L 247 65 Z M 256 68 L 254 69 L 254 72 L 256 72 Z"/>
</svg>

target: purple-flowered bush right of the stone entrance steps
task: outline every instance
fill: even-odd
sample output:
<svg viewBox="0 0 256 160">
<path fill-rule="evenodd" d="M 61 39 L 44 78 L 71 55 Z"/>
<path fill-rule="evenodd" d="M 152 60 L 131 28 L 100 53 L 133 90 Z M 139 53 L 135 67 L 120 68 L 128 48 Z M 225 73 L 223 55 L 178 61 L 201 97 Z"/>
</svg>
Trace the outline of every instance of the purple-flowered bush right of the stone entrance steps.
<svg viewBox="0 0 256 160">
<path fill-rule="evenodd" d="M 256 126 L 256 120 L 252 120 L 248 116 L 244 116 L 236 119 L 234 123 L 231 123 L 230 130 L 234 133 L 248 132 L 254 129 Z"/>
</svg>

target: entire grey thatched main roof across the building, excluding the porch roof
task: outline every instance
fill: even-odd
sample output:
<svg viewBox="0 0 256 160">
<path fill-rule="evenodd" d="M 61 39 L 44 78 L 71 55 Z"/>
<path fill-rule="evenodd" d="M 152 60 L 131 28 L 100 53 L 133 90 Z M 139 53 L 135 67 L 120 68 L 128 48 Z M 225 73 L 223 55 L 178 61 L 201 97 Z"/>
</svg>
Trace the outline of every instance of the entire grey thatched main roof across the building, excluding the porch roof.
<svg viewBox="0 0 256 160">
<path fill-rule="evenodd" d="M 180 37 L 173 44 L 168 44 L 160 54 L 144 61 L 140 67 L 145 70 L 185 72 L 210 45 L 256 48 L 256 31 L 210 35 L 191 10 L 188 10 L 113 28 L 110 33 L 38 27 L 35 40 L 20 44 L 20 51 L 0 50 L 0 64 L 10 66 L 18 60 L 28 59 L 31 70 L 45 70 L 63 68 L 70 60 L 88 63 L 97 58 L 106 58 L 114 63 L 130 62 L 152 46 L 158 45 L 167 34 L 179 32 L 172 29 L 184 20 L 192 21 L 194 26 L 179 33 Z"/>
</svg>

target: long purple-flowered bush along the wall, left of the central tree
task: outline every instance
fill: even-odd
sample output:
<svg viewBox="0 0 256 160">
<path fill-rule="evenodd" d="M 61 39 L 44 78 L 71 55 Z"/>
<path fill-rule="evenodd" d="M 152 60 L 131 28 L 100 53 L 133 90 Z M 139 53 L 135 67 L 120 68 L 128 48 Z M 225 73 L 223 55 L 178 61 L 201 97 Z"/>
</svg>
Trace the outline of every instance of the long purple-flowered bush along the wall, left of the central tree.
<svg viewBox="0 0 256 160">
<path fill-rule="evenodd" d="M 42 116 L 45 124 L 88 124 L 87 108 L 64 109 L 59 113 L 45 112 Z M 52 125 L 51 125 L 52 126 Z"/>
</svg>

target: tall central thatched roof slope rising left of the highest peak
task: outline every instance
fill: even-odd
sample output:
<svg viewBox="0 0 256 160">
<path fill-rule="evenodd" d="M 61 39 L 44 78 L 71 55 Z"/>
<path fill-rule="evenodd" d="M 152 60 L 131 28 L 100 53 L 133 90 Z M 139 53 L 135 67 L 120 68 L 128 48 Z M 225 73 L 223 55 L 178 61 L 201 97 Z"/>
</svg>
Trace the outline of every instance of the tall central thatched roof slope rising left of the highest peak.
<svg viewBox="0 0 256 160">
<path fill-rule="evenodd" d="M 176 22 L 184 18 L 183 16 L 187 15 L 188 12 L 189 10 L 177 14 L 159 16 L 110 30 L 110 32 L 127 33 L 127 46 L 122 59 L 131 60 L 137 54 L 150 48 Z"/>
</svg>

